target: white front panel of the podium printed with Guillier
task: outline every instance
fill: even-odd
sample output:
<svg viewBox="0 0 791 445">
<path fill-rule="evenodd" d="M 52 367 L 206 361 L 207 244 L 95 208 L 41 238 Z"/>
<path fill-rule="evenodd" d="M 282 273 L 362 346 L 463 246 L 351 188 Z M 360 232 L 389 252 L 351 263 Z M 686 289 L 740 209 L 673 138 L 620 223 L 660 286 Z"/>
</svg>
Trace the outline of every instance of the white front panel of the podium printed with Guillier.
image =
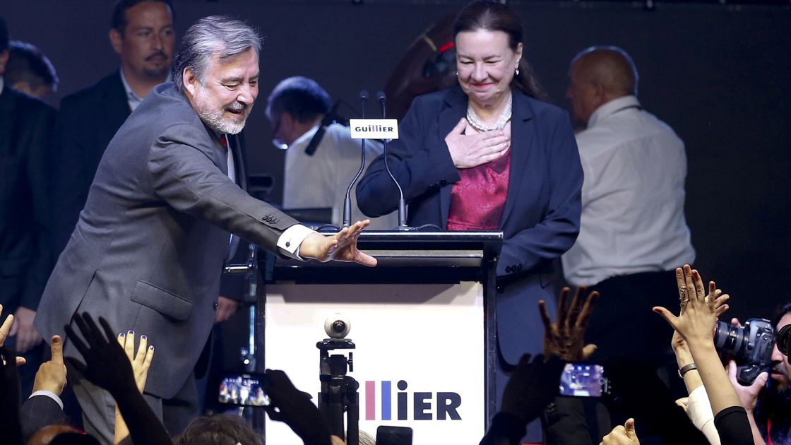
<svg viewBox="0 0 791 445">
<path fill-rule="evenodd" d="M 408 281 L 408 279 L 405 279 Z M 351 321 L 360 430 L 411 427 L 414 443 L 477 443 L 485 432 L 483 284 L 267 285 L 266 367 L 318 402 L 324 321 Z M 267 417 L 267 443 L 301 445 Z"/>
</svg>

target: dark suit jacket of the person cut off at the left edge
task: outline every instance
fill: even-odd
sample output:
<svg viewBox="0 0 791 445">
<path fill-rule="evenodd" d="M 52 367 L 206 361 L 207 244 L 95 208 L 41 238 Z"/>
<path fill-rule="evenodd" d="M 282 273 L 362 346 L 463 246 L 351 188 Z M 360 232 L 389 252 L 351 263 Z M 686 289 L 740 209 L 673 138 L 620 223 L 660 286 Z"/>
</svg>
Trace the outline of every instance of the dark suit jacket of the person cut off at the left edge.
<svg viewBox="0 0 791 445">
<path fill-rule="evenodd" d="M 0 94 L 0 304 L 36 310 L 51 268 L 47 143 L 55 108 L 6 85 Z"/>
</svg>

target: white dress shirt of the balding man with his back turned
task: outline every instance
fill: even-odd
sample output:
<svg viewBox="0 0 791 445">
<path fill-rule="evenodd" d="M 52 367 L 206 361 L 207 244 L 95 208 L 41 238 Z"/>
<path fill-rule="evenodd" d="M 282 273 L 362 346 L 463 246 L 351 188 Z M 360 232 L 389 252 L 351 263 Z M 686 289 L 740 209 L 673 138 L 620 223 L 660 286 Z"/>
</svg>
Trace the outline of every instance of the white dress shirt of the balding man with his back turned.
<svg viewBox="0 0 791 445">
<path fill-rule="evenodd" d="M 684 144 L 667 124 L 619 97 L 577 134 L 585 182 L 580 234 L 562 256 L 566 280 L 672 270 L 695 253 L 684 219 Z"/>
</svg>

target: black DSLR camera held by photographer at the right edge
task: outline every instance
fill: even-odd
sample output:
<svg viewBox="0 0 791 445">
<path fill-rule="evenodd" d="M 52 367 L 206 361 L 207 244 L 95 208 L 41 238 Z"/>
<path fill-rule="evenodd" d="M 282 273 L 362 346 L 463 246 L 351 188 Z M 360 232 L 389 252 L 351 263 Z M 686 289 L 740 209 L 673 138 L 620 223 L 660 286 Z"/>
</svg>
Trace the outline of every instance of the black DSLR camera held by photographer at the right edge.
<svg viewBox="0 0 791 445">
<path fill-rule="evenodd" d="M 750 318 L 739 328 L 717 321 L 714 328 L 717 349 L 744 363 L 736 373 L 736 380 L 744 386 L 750 386 L 769 367 L 774 340 L 772 323 L 765 318 Z"/>
</svg>

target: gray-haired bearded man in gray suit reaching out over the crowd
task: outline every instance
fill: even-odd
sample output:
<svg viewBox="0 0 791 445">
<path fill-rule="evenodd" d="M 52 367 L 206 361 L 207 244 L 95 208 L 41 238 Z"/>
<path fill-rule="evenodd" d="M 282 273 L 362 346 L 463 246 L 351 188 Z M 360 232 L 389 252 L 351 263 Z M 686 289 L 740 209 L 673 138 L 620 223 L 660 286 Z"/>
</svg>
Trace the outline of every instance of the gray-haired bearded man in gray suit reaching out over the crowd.
<svg viewBox="0 0 791 445">
<path fill-rule="evenodd" d="M 191 26 L 174 82 L 153 89 L 108 145 L 36 315 L 44 338 L 83 311 L 145 334 L 157 351 L 145 394 L 174 435 L 185 419 L 168 418 L 163 400 L 195 401 L 192 372 L 214 322 L 229 232 L 290 257 L 376 264 L 357 250 L 368 221 L 324 237 L 234 183 L 239 160 L 222 141 L 242 130 L 258 94 L 259 48 L 257 33 L 228 17 Z M 64 353 L 78 356 L 68 342 Z M 112 397 L 84 379 L 74 390 L 86 430 L 112 441 Z"/>
</svg>

